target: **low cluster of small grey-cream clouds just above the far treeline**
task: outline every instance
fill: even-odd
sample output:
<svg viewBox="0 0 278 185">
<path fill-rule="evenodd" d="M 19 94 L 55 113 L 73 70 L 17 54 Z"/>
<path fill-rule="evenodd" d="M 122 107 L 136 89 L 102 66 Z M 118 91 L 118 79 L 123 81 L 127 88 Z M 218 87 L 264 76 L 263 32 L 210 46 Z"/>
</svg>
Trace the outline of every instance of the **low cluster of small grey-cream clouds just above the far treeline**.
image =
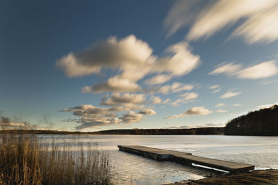
<svg viewBox="0 0 278 185">
<path fill-rule="evenodd" d="M 145 94 L 119 94 L 114 93 L 111 97 L 101 99 L 101 105 L 108 107 L 95 107 L 94 105 L 79 105 L 76 107 L 63 109 L 60 112 L 72 112 L 79 118 L 66 118 L 64 122 L 79 123 L 76 130 L 90 129 L 120 123 L 139 123 L 145 115 L 156 114 L 153 109 L 145 108 Z M 140 109 L 138 113 L 131 109 Z M 115 112 L 124 112 L 119 116 Z"/>
</svg>

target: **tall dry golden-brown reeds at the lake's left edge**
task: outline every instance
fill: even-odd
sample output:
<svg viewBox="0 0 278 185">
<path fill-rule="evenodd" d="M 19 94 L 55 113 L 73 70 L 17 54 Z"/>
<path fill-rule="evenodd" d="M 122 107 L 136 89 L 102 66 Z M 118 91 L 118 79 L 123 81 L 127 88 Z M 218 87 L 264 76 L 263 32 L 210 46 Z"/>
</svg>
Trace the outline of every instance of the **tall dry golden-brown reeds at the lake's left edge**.
<svg viewBox="0 0 278 185">
<path fill-rule="evenodd" d="M 108 156 L 90 146 L 0 135 L 0 184 L 111 184 Z"/>
</svg>

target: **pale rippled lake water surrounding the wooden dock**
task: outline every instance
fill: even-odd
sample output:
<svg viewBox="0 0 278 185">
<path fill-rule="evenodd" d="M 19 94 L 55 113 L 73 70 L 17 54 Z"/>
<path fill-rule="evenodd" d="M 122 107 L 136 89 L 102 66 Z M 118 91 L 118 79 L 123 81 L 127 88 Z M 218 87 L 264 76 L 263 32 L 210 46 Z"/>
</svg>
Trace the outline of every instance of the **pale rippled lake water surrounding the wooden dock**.
<svg viewBox="0 0 278 185">
<path fill-rule="evenodd" d="M 41 135 L 41 139 L 53 136 Z M 112 161 L 115 184 L 165 184 L 202 179 L 217 172 L 147 159 L 117 149 L 117 145 L 141 145 L 190 152 L 193 155 L 253 164 L 256 169 L 278 168 L 277 136 L 222 135 L 55 135 L 57 145 L 69 142 L 99 146 Z M 43 140 L 43 141 L 47 141 Z M 74 148 L 73 148 L 74 150 Z"/>
</svg>

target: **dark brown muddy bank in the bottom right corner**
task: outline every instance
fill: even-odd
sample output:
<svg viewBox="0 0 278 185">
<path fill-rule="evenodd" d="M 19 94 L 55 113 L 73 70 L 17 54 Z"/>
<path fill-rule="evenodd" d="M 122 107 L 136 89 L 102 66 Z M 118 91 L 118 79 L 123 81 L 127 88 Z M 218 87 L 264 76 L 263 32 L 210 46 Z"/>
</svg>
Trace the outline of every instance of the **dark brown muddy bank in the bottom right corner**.
<svg viewBox="0 0 278 185">
<path fill-rule="evenodd" d="M 278 170 L 254 170 L 248 173 L 240 173 L 234 175 L 221 175 L 199 179 L 185 183 L 174 183 L 174 185 L 228 185 L 228 184 L 278 184 Z M 170 184 L 168 184 L 170 185 Z"/>
</svg>

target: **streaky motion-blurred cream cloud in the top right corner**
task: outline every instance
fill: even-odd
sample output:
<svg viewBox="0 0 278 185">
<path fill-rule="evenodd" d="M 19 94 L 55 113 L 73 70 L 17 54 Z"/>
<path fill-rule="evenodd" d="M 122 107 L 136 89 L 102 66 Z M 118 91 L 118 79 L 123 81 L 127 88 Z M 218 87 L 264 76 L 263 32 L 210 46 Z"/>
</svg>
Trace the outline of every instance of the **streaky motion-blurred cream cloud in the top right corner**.
<svg viewBox="0 0 278 185">
<path fill-rule="evenodd" d="M 270 43 L 278 39 L 277 9 L 276 0 L 176 1 L 163 24 L 167 36 L 191 26 L 186 38 L 196 40 L 211 37 L 240 20 L 232 37 L 243 36 L 250 44 Z"/>
</svg>

